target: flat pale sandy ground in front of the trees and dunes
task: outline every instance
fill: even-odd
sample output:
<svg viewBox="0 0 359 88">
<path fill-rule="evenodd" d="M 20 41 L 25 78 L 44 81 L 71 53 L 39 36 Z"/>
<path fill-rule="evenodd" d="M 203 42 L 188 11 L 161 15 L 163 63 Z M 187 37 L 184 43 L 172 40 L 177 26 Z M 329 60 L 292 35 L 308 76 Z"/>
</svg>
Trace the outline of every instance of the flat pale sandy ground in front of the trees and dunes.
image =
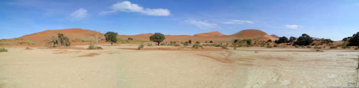
<svg viewBox="0 0 359 88">
<path fill-rule="evenodd" d="M 327 88 L 357 78 L 358 51 L 121 49 L 137 47 L 7 47 L 9 52 L 0 52 L 0 88 Z"/>
</svg>

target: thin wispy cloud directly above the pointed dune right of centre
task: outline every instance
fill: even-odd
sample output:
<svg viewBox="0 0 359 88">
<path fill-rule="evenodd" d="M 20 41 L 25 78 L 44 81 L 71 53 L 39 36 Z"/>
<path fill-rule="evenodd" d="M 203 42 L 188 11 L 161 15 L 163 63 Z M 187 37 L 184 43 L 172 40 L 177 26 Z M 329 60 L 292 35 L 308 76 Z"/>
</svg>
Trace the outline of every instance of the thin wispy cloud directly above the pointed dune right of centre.
<svg viewBox="0 0 359 88">
<path fill-rule="evenodd" d="M 208 23 L 207 20 L 202 21 L 202 20 L 188 19 L 188 20 L 185 20 L 185 22 L 188 24 L 196 25 L 196 26 L 200 27 L 200 29 L 222 29 L 222 28 L 219 28 L 219 26 L 217 24 Z"/>
</svg>

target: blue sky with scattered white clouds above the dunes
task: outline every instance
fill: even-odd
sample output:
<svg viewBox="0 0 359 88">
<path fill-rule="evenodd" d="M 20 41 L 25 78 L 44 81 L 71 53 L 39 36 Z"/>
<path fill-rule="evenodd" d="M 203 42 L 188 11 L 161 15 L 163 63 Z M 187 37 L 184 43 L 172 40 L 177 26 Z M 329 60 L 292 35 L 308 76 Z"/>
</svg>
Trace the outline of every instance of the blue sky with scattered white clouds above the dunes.
<svg viewBox="0 0 359 88">
<path fill-rule="evenodd" d="M 1 0 L 0 38 L 69 28 L 119 35 L 245 29 L 341 40 L 359 31 L 358 0 Z"/>
</svg>

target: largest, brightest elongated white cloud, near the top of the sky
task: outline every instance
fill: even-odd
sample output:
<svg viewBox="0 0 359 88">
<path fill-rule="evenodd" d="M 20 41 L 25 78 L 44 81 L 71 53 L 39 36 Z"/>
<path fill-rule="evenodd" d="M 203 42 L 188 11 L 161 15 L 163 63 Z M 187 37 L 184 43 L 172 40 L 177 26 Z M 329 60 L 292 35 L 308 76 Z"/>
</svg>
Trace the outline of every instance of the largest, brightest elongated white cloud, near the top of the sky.
<svg viewBox="0 0 359 88">
<path fill-rule="evenodd" d="M 168 16 L 170 11 L 168 9 L 149 9 L 143 8 L 137 4 L 132 4 L 130 1 L 123 1 L 117 4 L 113 4 L 111 9 L 112 11 L 102 11 L 100 15 L 112 15 L 117 14 L 117 11 L 124 12 L 137 12 L 145 15 L 153 15 L 153 16 Z"/>
</svg>

